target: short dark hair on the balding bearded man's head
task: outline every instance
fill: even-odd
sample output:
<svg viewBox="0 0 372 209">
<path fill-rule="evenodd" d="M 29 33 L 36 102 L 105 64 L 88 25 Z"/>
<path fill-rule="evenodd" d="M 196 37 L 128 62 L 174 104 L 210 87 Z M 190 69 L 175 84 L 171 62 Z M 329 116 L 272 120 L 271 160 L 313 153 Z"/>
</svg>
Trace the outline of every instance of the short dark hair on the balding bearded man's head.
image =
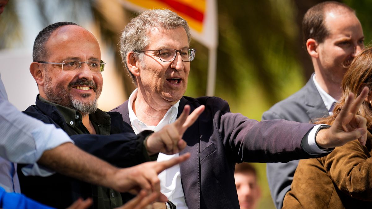
<svg viewBox="0 0 372 209">
<path fill-rule="evenodd" d="M 32 49 L 32 60 L 34 62 L 44 61 L 47 57 L 47 49 L 45 49 L 45 43 L 49 40 L 52 33 L 61 26 L 64 25 L 77 25 L 73 22 L 57 22 L 52 25 L 48 25 L 42 29 L 35 38 Z"/>
</svg>

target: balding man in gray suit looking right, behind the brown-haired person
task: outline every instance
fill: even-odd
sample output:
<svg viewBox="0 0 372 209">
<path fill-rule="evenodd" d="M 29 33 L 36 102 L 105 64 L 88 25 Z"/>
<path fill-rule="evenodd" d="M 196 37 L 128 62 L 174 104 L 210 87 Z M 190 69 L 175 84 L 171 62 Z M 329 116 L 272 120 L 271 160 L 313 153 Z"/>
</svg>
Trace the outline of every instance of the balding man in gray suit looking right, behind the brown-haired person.
<svg viewBox="0 0 372 209">
<path fill-rule="evenodd" d="M 302 89 L 264 112 L 263 120 L 314 123 L 332 114 L 333 104 L 341 95 L 343 75 L 364 48 L 362 26 L 355 11 L 342 3 L 326 1 L 311 7 L 302 20 L 302 32 L 315 73 Z M 267 179 L 276 208 L 282 208 L 297 165 L 298 160 L 267 164 Z"/>
</svg>

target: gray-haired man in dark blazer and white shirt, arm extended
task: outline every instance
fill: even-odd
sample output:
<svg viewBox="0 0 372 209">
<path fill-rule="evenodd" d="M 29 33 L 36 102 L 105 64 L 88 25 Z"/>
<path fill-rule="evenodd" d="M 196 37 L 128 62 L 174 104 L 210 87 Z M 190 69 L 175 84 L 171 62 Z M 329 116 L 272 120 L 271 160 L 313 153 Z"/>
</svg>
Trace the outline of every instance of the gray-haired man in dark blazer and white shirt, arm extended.
<svg viewBox="0 0 372 209">
<path fill-rule="evenodd" d="M 137 89 L 113 111 L 120 112 L 135 132 L 144 129 L 156 132 L 179 117 L 186 105 L 190 105 L 190 110 L 205 107 L 183 135 L 187 145 L 180 154 L 190 152 L 190 159 L 159 175 L 161 192 L 177 209 L 240 208 L 235 163 L 317 157 L 327 154 L 320 147 L 340 146 L 356 138 L 365 144 L 366 119 L 355 114 L 368 88 L 353 105 L 354 96 L 349 97 L 349 106 L 343 108 L 343 114 L 328 129 L 288 120 L 258 122 L 231 113 L 228 103 L 221 98 L 183 96 L 195 49 L 190 48 L 186 20 L 176 13 L 170 10 L 141 13 L 126 25 L 120 45 L 123 62 Z M 158 161 L 176 157 L 179 142 L 182 140 L 161 151 Z M 173 205 L 159 206 L 166 209 Z"/>
</svg>

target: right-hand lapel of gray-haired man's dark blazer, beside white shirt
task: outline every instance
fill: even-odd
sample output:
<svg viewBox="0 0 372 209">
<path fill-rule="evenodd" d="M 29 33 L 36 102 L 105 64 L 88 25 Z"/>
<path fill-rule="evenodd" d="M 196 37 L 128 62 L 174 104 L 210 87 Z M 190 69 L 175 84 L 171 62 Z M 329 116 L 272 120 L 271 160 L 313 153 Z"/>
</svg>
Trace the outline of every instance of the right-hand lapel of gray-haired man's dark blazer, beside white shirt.
<svg viewBox="0 0 372 209">
<path fill-rule="evenodd" d="M 187 100 L 182 97 L 178 108 L 177 118 L 182 113 L 183 107 L 187 104 Z M 190 112 L 195 110 L 191 106 Z M 200 165 L 199 165 L 199 120 L 190 126 L 185 134 L 183 134 L 187 146 L 180 152 L 184 154 L 190 152 L 189 160 L 180 164 L 181 181 L 183 193 L 188 208 L 200 208 Z"/>
</svg>

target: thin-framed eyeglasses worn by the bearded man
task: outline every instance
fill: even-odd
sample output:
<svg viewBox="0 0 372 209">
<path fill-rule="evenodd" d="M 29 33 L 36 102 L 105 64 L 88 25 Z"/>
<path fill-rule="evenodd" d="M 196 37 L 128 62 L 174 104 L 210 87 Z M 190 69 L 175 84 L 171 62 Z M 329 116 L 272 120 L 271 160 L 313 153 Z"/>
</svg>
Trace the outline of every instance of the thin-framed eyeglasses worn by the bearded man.
<svg viewBox="0 0 372 209">
<path fill-rule="evenodd" d="M 87 60 L 86 62 L 80 62 L 80 60 L 65 60 L 60 62 L 45 62 L 45 61 L 36 61 L 39 63 L 46 63 L 46 64 L 55 64 L 55 65 L 62 65 L 62 71 L 72 71 L 76 69 L 80 69 L 81 64 L 86 63 L 89 69 L 93 73 L 102 73 L 105 70 L 105 62 L 103 60 Z"/>
</svg>

